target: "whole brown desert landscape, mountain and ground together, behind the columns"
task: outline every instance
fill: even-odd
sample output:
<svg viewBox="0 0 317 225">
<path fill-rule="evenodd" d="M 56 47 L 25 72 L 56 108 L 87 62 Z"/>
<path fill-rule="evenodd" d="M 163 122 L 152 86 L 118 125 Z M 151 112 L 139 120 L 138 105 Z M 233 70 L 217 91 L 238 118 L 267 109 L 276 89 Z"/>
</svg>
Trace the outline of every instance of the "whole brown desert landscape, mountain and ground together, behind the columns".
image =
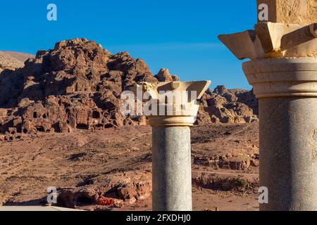
<svg viewBox="0 0 317 225">
<path fill-rule="evenodd" d="M 36 56 L 1 52 L 0 205 L 45 205 L 49 195 L 61 207 L 151 210 L 151 127 L 144 116 L 123 117 L 121 95 L 140 82 L 179 81 L 85 38 Z M 194 210 L 258 210 L 253 91 L 220 85 L 198 104 Z"/>
</svg>

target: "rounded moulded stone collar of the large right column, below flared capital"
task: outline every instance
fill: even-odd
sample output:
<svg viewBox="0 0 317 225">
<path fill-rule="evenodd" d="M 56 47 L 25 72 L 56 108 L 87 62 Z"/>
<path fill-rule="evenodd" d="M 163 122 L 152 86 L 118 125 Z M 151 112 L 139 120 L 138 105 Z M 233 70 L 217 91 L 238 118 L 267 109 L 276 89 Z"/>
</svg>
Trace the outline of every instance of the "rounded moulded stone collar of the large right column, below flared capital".
<svg viewBox="0 0 317 225">
<path fill-rule="evenodd" d="M 317 98 L 317 58 L 268 58 L 243 63 L 256 98 Z"/>
</svg>

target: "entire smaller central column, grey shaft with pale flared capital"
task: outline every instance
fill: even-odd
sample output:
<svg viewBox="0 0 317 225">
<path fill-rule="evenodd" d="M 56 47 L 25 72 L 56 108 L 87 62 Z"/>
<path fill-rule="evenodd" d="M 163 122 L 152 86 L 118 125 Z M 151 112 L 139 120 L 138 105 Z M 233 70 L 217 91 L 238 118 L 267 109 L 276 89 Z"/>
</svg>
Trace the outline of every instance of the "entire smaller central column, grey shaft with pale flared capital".
<svg viewBox="0 0 317 225">
<path fill-rule="evenodd" d="M 201 98 L 211 82 L 142 84 L 150 99 L 145 114 L 152 127 L 154 211 L 192 210 L 192 154 L 190 127 Z M 141 85 L 138 85 L 141 86 Z M 137 88 L 138 89 L 138 88 Z"/>
</svg>

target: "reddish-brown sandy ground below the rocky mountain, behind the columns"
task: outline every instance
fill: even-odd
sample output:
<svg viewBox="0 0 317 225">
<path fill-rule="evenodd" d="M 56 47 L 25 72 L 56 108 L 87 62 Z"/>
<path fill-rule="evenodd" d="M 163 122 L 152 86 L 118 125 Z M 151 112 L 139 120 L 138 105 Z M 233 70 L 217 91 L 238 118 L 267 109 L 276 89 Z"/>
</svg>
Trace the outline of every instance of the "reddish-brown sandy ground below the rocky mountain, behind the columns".
<svg viewBox="0 0 317 225">
<path fill-rule="evenodd" d="M 192 128 L 194 210 L 259 210 L 258 129 L 258 122 Z M 0 205 L 44 205 L 54 186 L 63 207 L 151 210 L 151 127 L 3 140 L 0 174 Z"/>
</svg>

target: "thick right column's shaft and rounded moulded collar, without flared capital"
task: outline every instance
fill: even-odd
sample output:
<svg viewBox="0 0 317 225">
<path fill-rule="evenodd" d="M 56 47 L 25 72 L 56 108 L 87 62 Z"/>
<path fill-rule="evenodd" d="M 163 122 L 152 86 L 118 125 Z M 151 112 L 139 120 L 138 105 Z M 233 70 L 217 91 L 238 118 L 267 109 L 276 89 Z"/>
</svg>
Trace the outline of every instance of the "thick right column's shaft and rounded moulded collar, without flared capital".
<svg viewBox="0 0 317 225">
<path fill-rule="evenodd" d="M 317 58 L 243 64 L 259 98 L 260 210 L 317 210 Z"/>
</svg>

